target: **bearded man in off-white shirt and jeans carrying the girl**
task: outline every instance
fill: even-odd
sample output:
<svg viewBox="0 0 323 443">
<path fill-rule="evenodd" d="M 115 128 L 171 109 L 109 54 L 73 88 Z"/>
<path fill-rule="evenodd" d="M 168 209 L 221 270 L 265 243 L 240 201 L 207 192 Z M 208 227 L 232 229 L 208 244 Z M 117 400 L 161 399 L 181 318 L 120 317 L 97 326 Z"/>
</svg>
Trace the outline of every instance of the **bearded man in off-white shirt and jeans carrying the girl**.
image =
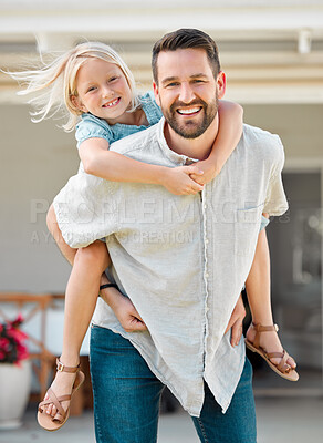
<svg viewBox="0 0 323 443">
<path fill-rule="evenodd" d="M 226 91 L 212 39 L 165 35 L 153 50 L 154 92 L 165 120 L 112 150 L 165 166 L 204 159 Z M 190 413 L 201 442 L 254 443 L 251 367 L 226 328 L 252 264 L 261 213 L 286 209 L 277 136 L 244 126 L 221 174 L 199 195 L 106 183 L 112 274 L 148 331 L 127 332 L 102 300 L 91 332 L 100 443 L 157 439 L 164 384 Z M 237 326 L 237 324 L 236 324 Z"/>
</svg>

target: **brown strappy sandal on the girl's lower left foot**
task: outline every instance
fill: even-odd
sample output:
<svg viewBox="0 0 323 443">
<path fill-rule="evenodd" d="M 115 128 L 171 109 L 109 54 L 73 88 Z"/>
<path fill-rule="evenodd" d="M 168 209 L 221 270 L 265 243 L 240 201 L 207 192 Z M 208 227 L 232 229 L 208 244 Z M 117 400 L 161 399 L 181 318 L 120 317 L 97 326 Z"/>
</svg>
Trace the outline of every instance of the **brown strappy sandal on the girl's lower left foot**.
<svg viewBox="0 0 323 443">
<path fill-rule="evenodd" d="M 46 392 L 49 395 L 49 399 L 43 400 L 39 404 L 37 419 L 38 419 L 40 426 L 46 431 L 58 431 L 59 429 L 61 429 L 63 426 L 63 424 L 66 423 L 66 421 L 70 416 L 70 405 L 69 405 L 67 410 L 65 411 L 62 408 L 61 402 L 71 400 L 74 392 L 77 391 L 77 389 L 81 387 L 81 384 L 85 380 L 84 373 L 80 370 L 80 364 L 77 367 L 70 368 L 70 367 L 65 367 L 63 363 L 60 362 L 59 359 L 56 359 L 56 369 L 60 372 L 70 372 L 70 373 L 76 372 L 76 378 L 75 378 L 71 394 L 56 396 L 54 394 L 53 390 L 51 388 L 49 388 L 49 390 Z M 53 403 L 56 406 L 58 412 L 56 412 L 55 416 L 51 416 L 45 413 L 45 406 L 51 403 Z"/>
</svg>

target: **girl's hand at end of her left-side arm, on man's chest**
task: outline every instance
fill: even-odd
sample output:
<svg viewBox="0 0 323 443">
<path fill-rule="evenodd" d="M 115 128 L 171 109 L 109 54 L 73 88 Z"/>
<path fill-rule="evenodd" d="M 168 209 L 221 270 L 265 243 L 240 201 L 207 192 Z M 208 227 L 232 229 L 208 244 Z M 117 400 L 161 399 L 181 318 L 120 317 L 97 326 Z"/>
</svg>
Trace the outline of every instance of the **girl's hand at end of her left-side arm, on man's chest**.
<svg viewBox="0 0 323 443">
<path fill-rule="evenodd" d="M 197 194 L 204 189 L 204 186 L 192 179 L 191 175 L 201 177 L 202 174 L 204 172 L 195 165 L 167 167 L 162 185 L 175 195 Z"/>
</svg>

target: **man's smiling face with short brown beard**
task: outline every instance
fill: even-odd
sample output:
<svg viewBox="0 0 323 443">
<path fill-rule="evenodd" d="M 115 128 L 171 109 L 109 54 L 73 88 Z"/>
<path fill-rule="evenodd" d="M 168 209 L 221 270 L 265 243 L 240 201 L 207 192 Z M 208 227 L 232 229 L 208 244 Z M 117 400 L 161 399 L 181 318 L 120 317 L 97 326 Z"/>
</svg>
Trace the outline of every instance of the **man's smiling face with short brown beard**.
<svg viewBox="0 0 323 443">
<path fill-rule="evenodd" d="M 167 123 L 185 138 L 199 137 L 218 112 L 218 79 L 206 51 L 162 51 L 157 66 L 158 85 L 154 83 L 154 92 Z"/>
</svg>

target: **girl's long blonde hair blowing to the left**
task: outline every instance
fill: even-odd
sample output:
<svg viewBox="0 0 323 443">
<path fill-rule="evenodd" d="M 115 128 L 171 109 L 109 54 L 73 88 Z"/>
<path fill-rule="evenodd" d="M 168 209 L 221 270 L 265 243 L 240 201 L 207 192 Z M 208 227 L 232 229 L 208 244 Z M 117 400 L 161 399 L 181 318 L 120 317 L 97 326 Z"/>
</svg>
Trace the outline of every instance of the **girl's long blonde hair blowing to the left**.
<svg viewBox="0 0 323 443">
<path fill-rule="evenodd" d="M 28 102 L 35 109 L 31 113 L 32 122 L 41 122 L 44 119 L 54 116 L 59 112 L 65 111 L 67 122 L 62 127 L 66 132 L 75 127 L 82 111 L 73 104 L 72 96 L 77 95 L 77 72 L 88 59 L 101 59 L 116 64 L 125 75 L 132 92 L 129 112 L 139 106 L 140 101 L 136 91 L 135 79 L 118 53 L 107 44 L 85 42 L 56 56 L 51 63 L 44 64 L 39 70 L 9 72 L 15 80 L 27 84 L 27 87 L 18 92 L 18 94 L 25 95 L 44 91 Z"/>
</svg>

